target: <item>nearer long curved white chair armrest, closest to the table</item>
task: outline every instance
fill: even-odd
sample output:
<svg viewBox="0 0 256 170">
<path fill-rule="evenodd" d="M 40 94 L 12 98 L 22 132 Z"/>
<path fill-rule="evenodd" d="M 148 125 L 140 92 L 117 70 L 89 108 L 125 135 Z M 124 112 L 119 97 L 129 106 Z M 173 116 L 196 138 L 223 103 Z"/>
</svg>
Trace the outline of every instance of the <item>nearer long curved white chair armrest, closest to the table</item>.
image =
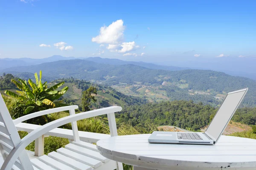
<svg viewBox="0 0 256 170">
<path fill-rule="evenodd" d="M 38 139 L 38 137 L 49 132 L 50 130 L 55 129 L 56 127 L 60 127 L 62 125 L 70 123 L 70 122 L 75 122 L 75 121 L 78 121 L 81 119 L 100 116 L 103 114 L 115 113 L 118 111 L 122 111 L 122 108 L 119 106 L 112 106 L 112 107 L 108 107 L 108 108 L 102 108 L 102 109 L 97 109 L 97 110 L 93 110 L 93 111 L 78 113 L 75 115 L 66 116 L 61 119 L 57 119 L 55 121 L 49 122 L 37 129 L 33 130 L 31 133 L 29 133 L 23 139 L 21 139 L 21 142 L 15 148 L 12 149 L 12 151 L 9 153 L 6 160 L 4 161 L 4 163 L 1 167 L 1 170 L 11 170 L 12 165 L 15 163 L 19 154 L 25 149 L 25 147 L 27 145 L 29 145 L 31 142 L 33 142 L 35 139 Z"/>
</svg>

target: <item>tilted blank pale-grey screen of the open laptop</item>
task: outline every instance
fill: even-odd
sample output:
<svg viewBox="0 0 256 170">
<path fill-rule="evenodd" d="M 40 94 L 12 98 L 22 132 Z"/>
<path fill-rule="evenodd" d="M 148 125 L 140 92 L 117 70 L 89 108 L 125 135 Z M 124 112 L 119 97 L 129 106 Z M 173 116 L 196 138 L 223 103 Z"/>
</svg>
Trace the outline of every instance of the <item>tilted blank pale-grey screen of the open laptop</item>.
<svg viewBox="0 0 256 170">
<path fill-rule="evenodd" d="M 215 114 L 212 122 L 206 130 L 206 133 L 213 137 L 215 142 L 218 137 L 222 135 L 222 130 L 226 127 L 231 116 L 233 116 L 233 113 L 236 111 L 236 108 L 240 104 L 240 101 L 242 100 L 246 91 L 247 88 L 227 94 L 224 102 L 222 103 L 221 107 Z"/>
</svg>

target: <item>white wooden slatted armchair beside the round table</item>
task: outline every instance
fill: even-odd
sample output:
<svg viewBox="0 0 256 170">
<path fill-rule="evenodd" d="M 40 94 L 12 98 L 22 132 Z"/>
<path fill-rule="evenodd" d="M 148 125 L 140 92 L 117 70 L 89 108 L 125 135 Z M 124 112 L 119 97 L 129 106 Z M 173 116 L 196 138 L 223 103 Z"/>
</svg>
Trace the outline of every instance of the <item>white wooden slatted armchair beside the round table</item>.
<svg viewBox="0 0 256 170">
<path fill-rule="evenodd" d="M 122 163 L 102 156 L 96 149 L 96 145 L 80 141 L 76 123 L 77 120 L 107 114 L 111 136 L 117 136 L 114 113 L 121 111 L 122 108 L 113 106 L 75 114 L 75 109 L 77 108 L 78 106 L 76 105 L 53 108 L 31 113 L 13 121 L 0 94 L 0 151 L 4 159 L 0 170 L 123 170 Z M 70 111 L 70 116 L 38 127 L 23 139 L 20 139 L 15 124 L 59 111 Z M 58 149 L 57 152 L 49 153 L 48 156 L 43 155 L 38 159 L 29 159 L 25 150 L 29 143 L 50 130 L 70 122 L 74 139 L 72 143 L 67 144 L 65 148 Z"/>
</svg>

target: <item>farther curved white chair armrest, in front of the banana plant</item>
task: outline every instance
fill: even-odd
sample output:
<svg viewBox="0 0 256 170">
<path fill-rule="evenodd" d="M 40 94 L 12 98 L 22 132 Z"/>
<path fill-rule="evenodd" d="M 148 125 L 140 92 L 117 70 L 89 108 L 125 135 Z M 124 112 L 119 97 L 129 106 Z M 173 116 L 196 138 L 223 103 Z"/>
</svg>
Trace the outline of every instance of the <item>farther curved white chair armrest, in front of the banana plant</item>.
<svg viewBox="0 0 256 170">
<path fill-rule="evenodd" d="M 46 115 L 46 114 L 56 113 L 56 112 L 60 112 L 60 111 L 70 111 L 70 110 L 75 110 L 75 109 L 78 109 L 77 105 L 47 109 L 47 110 L 44 110 L 44 111 L 38 111 L 38 112 L 35 112 L 35 113 L 30 113 L 28 115 L 19 117 L 17 119 L 14 119 L 13 122 L 14 122 L 14 125 L 17 125 L 21 122 L 24 122 L 26 120 L 29 120 L 29 119 L 32 119 L 32 118 L 35 118 L 35 117 L 38 117 L 38 116 L 43 116 L 43 115 Z"/>
</svg>

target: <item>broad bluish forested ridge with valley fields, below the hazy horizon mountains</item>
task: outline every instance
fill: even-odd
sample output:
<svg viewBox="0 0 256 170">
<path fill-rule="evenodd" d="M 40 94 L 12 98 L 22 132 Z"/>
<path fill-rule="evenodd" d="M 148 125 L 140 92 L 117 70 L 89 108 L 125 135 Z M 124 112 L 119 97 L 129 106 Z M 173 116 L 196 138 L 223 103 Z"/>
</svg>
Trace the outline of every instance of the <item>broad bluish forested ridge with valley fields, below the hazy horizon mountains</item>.
<svg viewBox="0 0 256 170">
<path fill-rule="evenodd" d="M 146 88 L 161 88 L 170 100 L 192 99 L 213 105 L 220 104 L 227 92 L 248 87 L 249 91 L 242 106 L 256 106 L 256 81 L 217 71 L 153 70 L 138 65 L 108 65 L 81 59 L 8 68 L 4 71 L 12 73 L 17 70 L 30 73 L 42 70 L 43 74 L 51 80 L 74 77 L 106 85 L 127 83 L 135 88 L 137 85 L 146 86 Z M 29 74 L 23 75 L 29 76 Z"/>
</svg>

